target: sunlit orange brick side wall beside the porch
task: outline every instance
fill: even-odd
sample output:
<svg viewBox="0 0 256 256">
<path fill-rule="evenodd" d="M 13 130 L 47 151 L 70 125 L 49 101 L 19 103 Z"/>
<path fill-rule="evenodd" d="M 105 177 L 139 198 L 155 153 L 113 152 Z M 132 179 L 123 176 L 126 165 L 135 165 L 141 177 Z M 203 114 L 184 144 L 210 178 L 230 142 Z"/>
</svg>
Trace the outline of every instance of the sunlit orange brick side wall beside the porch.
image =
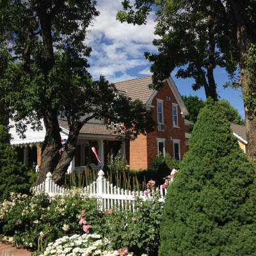
<svg viewBox="0 0 256 256">
<path fill-rule="evenodd" d="M 139 135 L 129 143 L 129 166 L 132 170 L 147 169 L 147 136 Z"/>
</svg>

